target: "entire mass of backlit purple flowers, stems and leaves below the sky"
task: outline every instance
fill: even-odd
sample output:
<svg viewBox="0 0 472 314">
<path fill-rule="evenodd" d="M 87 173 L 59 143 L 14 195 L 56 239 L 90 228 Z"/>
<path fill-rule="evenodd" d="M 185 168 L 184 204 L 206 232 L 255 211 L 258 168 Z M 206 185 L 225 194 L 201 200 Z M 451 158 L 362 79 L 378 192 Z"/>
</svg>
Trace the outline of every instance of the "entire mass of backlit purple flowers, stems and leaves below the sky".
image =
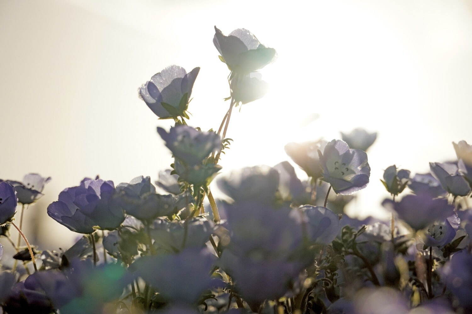
<svg viewBox="0 0 472 314">
<path fill-rule="evenodd" d="M 170 66 L 140 89 L 153 113 L 175 121 L 169 131 L 157 129 L 174 158 L 155 182 L 164 194 L 150 177 L 117 186 L 84 178 L 47 208 L 82 236 L 68 250 L 38 252 L 21 225 L 50 178 L 0 182 L 0 236 L 17 251 L 13 266 L 0 260 L 3 311 L 471 313 L 472 146 L 464 141 L 454 144 L 458 161 L 430 163 L 431 173 L 385 170 L 381 182 L 393 197 L 382 205 L 390 221 L 344 213 L 370 180 L 366 151 L 377 134 L 363 129 L 342 140 L 287 144 L 306 180 L 288 161 L 248 167 L 217 177 L 226 197 L 213 198 L 209 184 L 230 145 L 232 108 L 263 96 L 266 83 L 256 71 L 275 57 L 247 30 L 215 31 L 230 70 L 230 105 L 217 132 L 185 121 L 199 68 Z M 406 187 L 412 193 L 396 201 Z M 10 239 L 10 225 L 26 249 Z M 2 252 L 0 245 L 0 258 Z"/>
</svg>

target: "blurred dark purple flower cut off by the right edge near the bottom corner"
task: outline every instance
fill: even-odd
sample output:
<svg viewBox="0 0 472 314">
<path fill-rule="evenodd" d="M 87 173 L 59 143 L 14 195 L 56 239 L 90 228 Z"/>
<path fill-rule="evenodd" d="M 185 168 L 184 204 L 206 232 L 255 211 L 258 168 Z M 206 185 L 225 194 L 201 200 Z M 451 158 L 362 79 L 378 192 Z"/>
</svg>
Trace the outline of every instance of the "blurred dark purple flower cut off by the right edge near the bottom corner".
<svg viewBox="0 0 472 314">
<path fill-rule="evenodd" d="M 464 308 L 472 311 L 472 255 L 466 252 L 454 254 L 440 271 L 441 277 Z"/>
</svg>

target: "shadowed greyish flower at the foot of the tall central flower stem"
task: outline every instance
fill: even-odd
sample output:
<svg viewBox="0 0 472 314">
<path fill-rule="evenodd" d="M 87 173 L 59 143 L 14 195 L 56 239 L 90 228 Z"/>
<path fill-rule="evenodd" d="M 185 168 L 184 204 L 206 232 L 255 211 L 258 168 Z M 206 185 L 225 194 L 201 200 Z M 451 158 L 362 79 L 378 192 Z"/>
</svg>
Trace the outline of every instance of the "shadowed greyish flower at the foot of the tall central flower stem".
<svg viewBox="0 0 472 314">
<path fill-rule="evenodd" d="M 156 219 L 150 233 L 157 248 L 177 252 L 183 248 L 203 248 L 214 228 L 213 223 L 204 218 L 187 221 Z"/>
</svg>

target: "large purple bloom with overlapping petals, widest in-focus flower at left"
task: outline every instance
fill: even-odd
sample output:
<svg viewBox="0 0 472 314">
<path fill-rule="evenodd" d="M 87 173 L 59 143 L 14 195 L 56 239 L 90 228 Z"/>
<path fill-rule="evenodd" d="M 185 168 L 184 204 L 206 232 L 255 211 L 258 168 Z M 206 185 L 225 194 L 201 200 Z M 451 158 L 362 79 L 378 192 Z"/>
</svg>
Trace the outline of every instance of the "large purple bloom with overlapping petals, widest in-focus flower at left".
<svg viewBox="0 0 472 314">
<path fill-rule="evenodd" d="M 48 215 L 78 233 L 93 233 L 95 227 L 113 230 L 125 219 L 113 182 L 89 178 L 64 189 L 48 206 Z"/>
</svg>

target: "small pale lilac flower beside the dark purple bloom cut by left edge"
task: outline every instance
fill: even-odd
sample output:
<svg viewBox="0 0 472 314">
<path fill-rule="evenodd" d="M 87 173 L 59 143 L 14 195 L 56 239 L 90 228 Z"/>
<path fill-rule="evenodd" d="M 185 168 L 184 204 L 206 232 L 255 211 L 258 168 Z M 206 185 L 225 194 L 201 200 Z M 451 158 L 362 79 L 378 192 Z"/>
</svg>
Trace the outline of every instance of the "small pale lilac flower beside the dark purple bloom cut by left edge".
<svg viewBox="0 0 472 314">
<path fill-rule="evenodd" d="M 31 204 L 42 197 L 44 185 L 51 181 L 51 177 L 42 177 L 37 173 L 28 173 L 23 177 L 22 182 L 11 181 L 8 183 L 15 187 L 17 191 L 18 202 L 22 204 Z"/>
</svg>

